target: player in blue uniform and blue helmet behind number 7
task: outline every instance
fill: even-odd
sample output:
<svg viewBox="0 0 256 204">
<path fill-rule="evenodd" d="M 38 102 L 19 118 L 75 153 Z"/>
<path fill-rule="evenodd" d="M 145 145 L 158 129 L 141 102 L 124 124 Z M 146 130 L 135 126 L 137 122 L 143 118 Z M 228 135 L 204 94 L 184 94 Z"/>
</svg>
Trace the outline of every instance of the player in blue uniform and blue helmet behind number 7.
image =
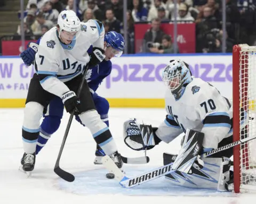
<svg viewBox="0 0 256 204">
<path fill-rule="evenodd" d="M 37 41 L 39 44 L 39 40 Z M 38 45 L 35 43 L 30 43 L 27 50 L 21 53 L 23 62 L 27 66 L 31 65 L 35 59 L 35 54 L 37 52 Z M 86 74 L 86 81 L 88 83 L 94 105 L 97 112 L 100 114 L 101 120 L 109 126 L 108 121 L 108 111 L 109 103 L 106 98 L 99 96 L 96 93 L 100 83 L 105 79 L 111 72 L 112 63 L 109 61 L 114 56 L 121 56 L 124 49 L 124 38 L 120 33 L 115 31 L 108 32 L 104 37 L 104 50 L 105 50 L 105 60 L 96 66 L 89 67 Z M 92 52 L 92 46 L 87 51 L 89 54 Z M 44 120 L 40 125 L 40 133 L 36 145 L 36 155 L 45 146 L 51 135 L 58 130 L 61 123 L 61 118 L 63 116 L 63 103 L 59 97 L 55 97 L 50 101 L 49 106 L 45 108 Z M 80 118 L 76 116 L 76 120 L 81 122 Z M 101 158 L 105 156 L 105 152 L 97 145 L 95 151 L 94 164 L 101 164 Z"/>
</svg>

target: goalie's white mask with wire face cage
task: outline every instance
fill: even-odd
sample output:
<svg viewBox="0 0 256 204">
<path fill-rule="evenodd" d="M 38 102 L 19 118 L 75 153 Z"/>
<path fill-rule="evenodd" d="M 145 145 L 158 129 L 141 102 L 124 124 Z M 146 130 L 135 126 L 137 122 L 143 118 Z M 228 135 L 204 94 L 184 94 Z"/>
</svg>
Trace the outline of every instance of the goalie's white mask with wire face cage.
<svg viewBox="0 0 256 204">
<path fill-rule="evenodd" d="M 171 89 L 175 99 L 178 100 L 188 83 L 192 81 L 189 65 L 182 60 L 171 60 L 162 73 L 164 84 Z"/>
</svg>

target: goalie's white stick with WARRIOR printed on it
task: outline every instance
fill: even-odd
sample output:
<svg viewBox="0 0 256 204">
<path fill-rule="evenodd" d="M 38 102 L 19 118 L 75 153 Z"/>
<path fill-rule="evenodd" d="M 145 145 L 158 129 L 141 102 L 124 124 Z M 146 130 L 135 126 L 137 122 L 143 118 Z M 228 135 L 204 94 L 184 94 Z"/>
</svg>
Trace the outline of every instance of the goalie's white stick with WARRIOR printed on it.
<svg viewBox="0 0 256 204">
<path fill-rule="evenodd" d="M 207 156 L 213 155 L 217 152 L 220 152 L 220 151 L 229 149 L 231 147 L 240 145 L 241 143 L 253 140 L 255 138 L 256 138 L 256 136 L 255 137 L 250 137 L 250 138 L 245 138 L 245 139 L 242 139 L 242 140 L 238 140 L 236 142 L 230 143 L 230 144 L 222 146 L 220 148 L 213 149 L 209 152 L 205 152 L 201 156 L 202 157 L 207 157 Z M 162 177 L 166 174 L 170 174 L 170 173 L 176 171 L 176 170 L 172 170 L 172 163 L 171 163 L 171 164 L 167 164 L 167 165 L 158 167 L 158 168 L 156 168 L 154 170 L 151 170 L 147 173 L 143 173 L 141 175 L 129 178 L 129 177 L 126 177 L 124 175 L 124 173 L 115 165 L 115 163 L 113 162 L 113 160 L 110 157 L 108 157 L 108 156 L 103 157 L 102 158 L 102 163 L 103 163 L 103 165 L 105 165 L 105 167 L 108 169 L 108 171 L 110 173 L 115 174 L 115 179 L 124 188 L 132 188 L 134 186 L 140 185 L 142 183 L 149 182 L 151 180 L 155 180 L 159 177 Z"/>
</svg>

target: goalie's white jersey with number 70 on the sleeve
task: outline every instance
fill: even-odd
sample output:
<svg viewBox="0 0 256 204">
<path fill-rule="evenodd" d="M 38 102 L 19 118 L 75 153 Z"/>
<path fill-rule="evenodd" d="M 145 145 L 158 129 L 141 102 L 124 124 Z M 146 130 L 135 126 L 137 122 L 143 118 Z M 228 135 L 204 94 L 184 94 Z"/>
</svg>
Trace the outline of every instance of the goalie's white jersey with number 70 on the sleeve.
<svg viewBox="0 0 256 204">
<path fill-rule="evenodd" d="M 204 133 L 204 148 L 217 148 L 218 143 L 228 137 L 233 109 L 215 87 L 202 79 L 193 78 L 177 101 L 167 89 L 165 108 L 166 119 L 156 135 L 166 143 L 187 129 Z"/>
</svg>

